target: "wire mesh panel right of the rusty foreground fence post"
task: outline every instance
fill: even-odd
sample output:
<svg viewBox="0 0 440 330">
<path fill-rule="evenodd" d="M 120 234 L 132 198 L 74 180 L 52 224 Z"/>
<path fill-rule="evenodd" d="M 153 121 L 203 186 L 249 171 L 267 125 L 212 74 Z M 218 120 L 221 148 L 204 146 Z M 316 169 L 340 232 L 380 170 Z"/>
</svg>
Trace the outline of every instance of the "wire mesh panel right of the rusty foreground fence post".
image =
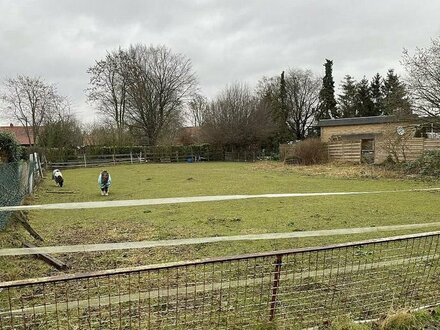
<svg viewBox="0 0 440 330">
<path fill-rule="evenodd" d="M 438 236 L 283 256 L 277 323 L 315 326 L 338 315 L 378 318 L 440 299 Z"/>
</svg>

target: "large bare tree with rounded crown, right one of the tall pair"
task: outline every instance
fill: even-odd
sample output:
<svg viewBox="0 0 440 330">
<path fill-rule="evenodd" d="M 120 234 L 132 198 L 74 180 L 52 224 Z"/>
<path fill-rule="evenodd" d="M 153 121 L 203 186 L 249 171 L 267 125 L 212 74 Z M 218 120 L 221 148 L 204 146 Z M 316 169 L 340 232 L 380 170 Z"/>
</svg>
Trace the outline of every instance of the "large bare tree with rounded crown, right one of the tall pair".
<svg viewBox="0 0 440 330">
<path fill-rule="evenodd" d="M 191 61 L 165 46 L 131 46 L 125 54 L 123 74 L 127 81 L 127 123 L 155 145 L 167 126 L 180 116 L 193 94 L 196 77 Z"/>
</svg>

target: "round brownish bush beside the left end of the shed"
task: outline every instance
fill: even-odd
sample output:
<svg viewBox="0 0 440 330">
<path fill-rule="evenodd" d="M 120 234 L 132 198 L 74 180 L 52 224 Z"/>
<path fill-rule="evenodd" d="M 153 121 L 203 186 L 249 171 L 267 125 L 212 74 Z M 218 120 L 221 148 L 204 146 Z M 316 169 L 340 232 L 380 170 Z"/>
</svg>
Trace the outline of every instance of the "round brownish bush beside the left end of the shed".
<svg viewBox="0 0 440 330">
<path fill-rule="evenodd" d="M 302 165 L 325 163 L 328 159 L 326 145 L 317 138 L 298 142 L 295 144 L 294 158 Z"/>
</svg>

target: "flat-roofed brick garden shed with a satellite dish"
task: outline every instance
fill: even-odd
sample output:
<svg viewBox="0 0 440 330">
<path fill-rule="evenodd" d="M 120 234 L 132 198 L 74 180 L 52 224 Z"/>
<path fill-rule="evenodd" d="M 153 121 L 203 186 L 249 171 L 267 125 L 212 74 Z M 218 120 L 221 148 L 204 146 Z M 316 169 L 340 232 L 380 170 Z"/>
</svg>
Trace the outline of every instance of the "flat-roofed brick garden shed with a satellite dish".
<svg viewBox="0 0 440 330">
<path fill-rule="evenodd" d="M 330 160 L 380 164 L 389 156 L 410 161 L 440 149 L 440 134 L 427 125 L 417 117 L 374 116 L 323 119 L 317 126 Z"/>
</svg>

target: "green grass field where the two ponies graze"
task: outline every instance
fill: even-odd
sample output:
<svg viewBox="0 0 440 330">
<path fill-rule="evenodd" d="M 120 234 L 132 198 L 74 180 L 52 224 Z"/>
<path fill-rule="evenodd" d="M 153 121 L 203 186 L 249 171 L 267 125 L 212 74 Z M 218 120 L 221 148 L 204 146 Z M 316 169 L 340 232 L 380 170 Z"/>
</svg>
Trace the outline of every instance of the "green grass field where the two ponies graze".
<svg viewBox="0 0 440 330">
<path fill-rule="evenodd" d="M 292 167 L 279 163 L 136 164 L 107 168 L 113 179 L 101 196 L 100 169 L 63 171 L 65 186 L 45 179 L 32 204 L 186 197 L 229 194 L 408 190 L 438 187 L 435 181 L 402 178 L 377 167 Z M 56 193 L 57 191 L 71 193 Z M 89 210 L 30 211 L 32 226 L 44 245 L 70 245 L 191 237 L 262 234 L 318 229 L 436 222 L 439 192 L 399 192 L 352 196 L 251 199 Z M 438 230 L 438 227 L 427 230 Z M 59 255 L 71 272 L 93 271 L 175 260 L 319 246 L 336 242 L 401 235 L 382 232 L 307 239 L 199 244 L 183 247 Z M 414 231 L 411 231 L 414 232 Z M 17 226 L 0 233 L 1 246 L 30 240 Z M 0 280 L 58 273 L 30 256 L 1 257 Z"/>
</svg>

